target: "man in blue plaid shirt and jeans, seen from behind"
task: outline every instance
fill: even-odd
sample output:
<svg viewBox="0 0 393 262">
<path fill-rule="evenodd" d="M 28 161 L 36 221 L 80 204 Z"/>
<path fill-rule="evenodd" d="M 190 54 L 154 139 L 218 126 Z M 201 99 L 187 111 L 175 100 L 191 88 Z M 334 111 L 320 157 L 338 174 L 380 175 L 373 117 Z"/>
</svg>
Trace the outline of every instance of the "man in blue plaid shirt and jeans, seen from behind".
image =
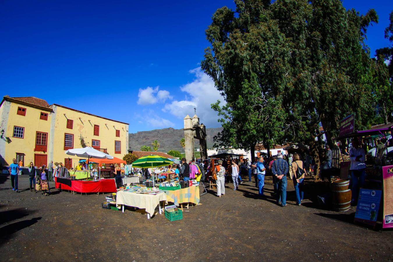
<svg viewBox="0 0 393 262">
<path fill-rule="evenodd" d="M 288 173 L 288 163 L 283 159 L 283 155 L 279 153 L 277 159 L 273 162 L 272 173 L 275 176 L 277 189 L 277 204 L 286 206 L 286 174 Z"/>
</svg>

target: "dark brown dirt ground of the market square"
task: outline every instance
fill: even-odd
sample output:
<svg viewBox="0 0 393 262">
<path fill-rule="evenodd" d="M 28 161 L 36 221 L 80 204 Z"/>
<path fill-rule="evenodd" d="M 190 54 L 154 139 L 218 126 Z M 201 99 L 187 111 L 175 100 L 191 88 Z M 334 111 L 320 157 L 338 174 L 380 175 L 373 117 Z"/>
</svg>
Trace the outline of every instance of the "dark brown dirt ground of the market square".
<svg viewBox="0 0 393 262">
<path fill-rule="evenodd" d="M 210 191 L 175 222 L 160 214 L 147 220 L 131 208 L 102 209 L 102 194 L 52 189 L 43 196 L 26 190 L 28 181 L 19 177 L 17 193 L 9 177 L 0 180 L 2 261 L 393 260 L 392 231 L 353 225 L 353 209 L 320 209 L 307 194 L 320 191 L 310 180 L 302 206 L 295 205 L 291 183 L 286 207 L 258 199 L 253 182 L 239 191 L 227 183 L 225 196 Z M 270 196 L 271 178 L 265 189 Z"/>
</svg>

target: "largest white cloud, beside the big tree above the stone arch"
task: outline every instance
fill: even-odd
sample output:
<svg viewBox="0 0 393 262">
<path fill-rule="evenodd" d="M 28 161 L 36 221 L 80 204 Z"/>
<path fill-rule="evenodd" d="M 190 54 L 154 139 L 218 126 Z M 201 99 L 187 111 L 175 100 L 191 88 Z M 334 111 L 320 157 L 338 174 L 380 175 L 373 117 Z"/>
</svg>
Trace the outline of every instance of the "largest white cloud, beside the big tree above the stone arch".
<svg viewBox="0 0 393 262">
<path fill-rule="evenodd" d="M 196 79 L 180 87 L 180 90 L 187 93 L 185 100 L 176 100 L 166 104 L 163 111 L 170 112 L 174 116 L 183 119 L 187 114 L 192 117 L 195 107 L 200 123 L 204 123 L 206 127 L 220 126 L 217 122 L 217 112 L 211 109 L 211 104 L 217 100 L 223 103 L 224 98 L 215 88 L 213 80 L 200 68 L 190 70 L 190 73 L 195 74 Z"/>
</svg>

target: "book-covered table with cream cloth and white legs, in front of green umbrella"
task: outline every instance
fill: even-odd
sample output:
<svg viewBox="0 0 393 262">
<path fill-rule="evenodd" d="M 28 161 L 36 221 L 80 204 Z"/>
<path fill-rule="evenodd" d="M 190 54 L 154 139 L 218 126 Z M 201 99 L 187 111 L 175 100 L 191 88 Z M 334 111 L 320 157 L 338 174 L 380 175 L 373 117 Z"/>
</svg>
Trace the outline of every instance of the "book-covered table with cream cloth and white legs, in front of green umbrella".
<svg viewBox="0 0 393 262">
<path fill-rule="evenodd" d="M 167 197 L 164 191 L 155 190 L 148 192 L 137 192 L 137 191 L 127 191 L 119 190 L 116 196 L 116 206 L 121 207 L 124 213 L 124 206 L 137 207 L 139 209 L 145 209 L 147 213 L 147 219 L 154 214 L 154 210 L 158 207 L 158 211 L 162 214 L 162 209 L 160 206 L 161 202 L 166 203 Z"/>
</svg>

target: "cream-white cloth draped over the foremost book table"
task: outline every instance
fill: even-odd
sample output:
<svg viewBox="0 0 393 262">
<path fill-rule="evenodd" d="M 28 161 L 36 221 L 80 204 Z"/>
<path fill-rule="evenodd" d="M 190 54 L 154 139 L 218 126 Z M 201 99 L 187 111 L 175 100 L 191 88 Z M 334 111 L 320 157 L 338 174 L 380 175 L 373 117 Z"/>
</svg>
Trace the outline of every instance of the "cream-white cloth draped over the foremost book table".
<svg viewBox="0 0 393 262">
<path fill-rule="evenodd" d="M 129 207 L 138 207 L 146 209 L 146 213 L 154 214 L 154 209 L 160 204 L 160 201 L 167 202 L 165 192 L 156 195 L 137 194 L 134 192 L 118 191 L 116 196 L 116 205 L 127 205 Z"/>
</svg>

